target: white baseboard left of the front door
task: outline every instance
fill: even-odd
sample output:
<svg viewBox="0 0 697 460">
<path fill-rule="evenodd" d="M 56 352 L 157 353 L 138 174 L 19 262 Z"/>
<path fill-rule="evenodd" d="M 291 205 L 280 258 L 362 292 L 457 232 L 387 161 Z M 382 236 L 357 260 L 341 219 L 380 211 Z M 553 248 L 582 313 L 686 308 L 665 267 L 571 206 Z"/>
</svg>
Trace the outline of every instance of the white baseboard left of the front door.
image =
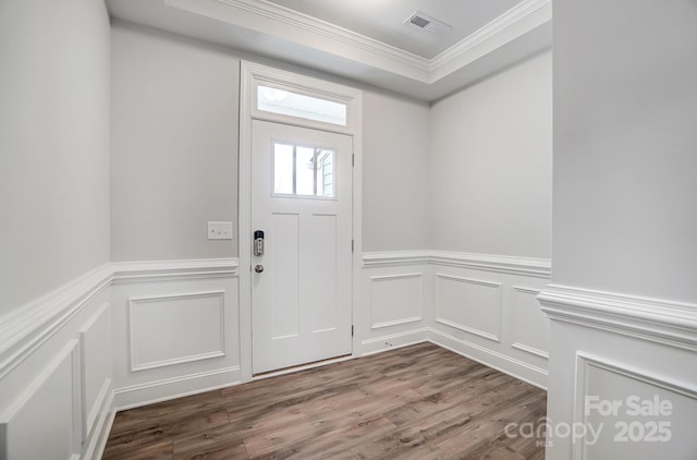
<svg viewBox="0 0 697 460">
<path fill-rule="evenodd" d="M 117 411 L 183 398 L 242 383 L 239 365 L 148 382 L 114 390 Z M 161 396 L 166 395 L 166 396 Z"/>
</svg>

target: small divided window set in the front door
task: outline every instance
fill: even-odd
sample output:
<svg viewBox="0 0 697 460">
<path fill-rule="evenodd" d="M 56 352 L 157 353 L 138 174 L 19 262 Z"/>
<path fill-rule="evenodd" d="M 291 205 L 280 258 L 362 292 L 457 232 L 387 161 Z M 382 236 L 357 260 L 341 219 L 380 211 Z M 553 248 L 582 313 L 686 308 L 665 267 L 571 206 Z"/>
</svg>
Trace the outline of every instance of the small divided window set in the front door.
<svg viewBox="0 0 697 460">
<path fill-rule="evenodd" d="M 334 198 L 334 150 L 276 141 L 271 152 L 274 196 Z"/>
</svg>

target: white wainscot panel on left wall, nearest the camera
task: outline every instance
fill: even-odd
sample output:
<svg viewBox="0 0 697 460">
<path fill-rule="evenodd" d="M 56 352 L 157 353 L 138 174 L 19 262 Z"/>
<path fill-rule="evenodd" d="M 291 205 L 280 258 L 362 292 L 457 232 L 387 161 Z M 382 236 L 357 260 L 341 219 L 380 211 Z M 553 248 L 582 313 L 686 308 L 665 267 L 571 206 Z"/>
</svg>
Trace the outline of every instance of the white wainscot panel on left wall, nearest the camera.
<svg viewBox="0 0 697 460">
<path fill-rule="evenodd" d="M 81 453 L 80 353 L 71 340 L 0 415 L 3 459 L 77 459 Z M 7 395 L 3 395 L 7 397 Z"/>
</svg>

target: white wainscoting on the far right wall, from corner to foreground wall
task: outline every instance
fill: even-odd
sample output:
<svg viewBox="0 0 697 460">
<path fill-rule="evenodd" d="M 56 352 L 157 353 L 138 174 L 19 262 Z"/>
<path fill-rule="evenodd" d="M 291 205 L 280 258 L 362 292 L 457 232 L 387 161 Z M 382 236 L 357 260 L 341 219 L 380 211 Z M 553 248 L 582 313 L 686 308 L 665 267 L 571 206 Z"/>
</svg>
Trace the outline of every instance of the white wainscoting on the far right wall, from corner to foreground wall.
<svg viewBox="0 0 697 460">
<path fill-rule="evenodd" d="M 549 279 L 549 261 L 435 252 L 431 269 L 430 339 L 546 388 L 549 325 L 533 293 Z"/>
</svg>

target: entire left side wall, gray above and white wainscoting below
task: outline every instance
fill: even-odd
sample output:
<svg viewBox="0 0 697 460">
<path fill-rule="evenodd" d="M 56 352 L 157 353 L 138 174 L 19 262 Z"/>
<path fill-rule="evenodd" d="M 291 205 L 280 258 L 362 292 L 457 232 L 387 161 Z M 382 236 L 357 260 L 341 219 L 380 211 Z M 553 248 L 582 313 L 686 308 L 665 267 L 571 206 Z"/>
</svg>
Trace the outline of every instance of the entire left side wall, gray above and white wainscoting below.
<svg viewBox="0 0 697 460">
<path fill-rule="evenodd" d="M 101 0 L 0 3 L 2 459 L 106 441 L 109 35 Z"/>
</svg>

